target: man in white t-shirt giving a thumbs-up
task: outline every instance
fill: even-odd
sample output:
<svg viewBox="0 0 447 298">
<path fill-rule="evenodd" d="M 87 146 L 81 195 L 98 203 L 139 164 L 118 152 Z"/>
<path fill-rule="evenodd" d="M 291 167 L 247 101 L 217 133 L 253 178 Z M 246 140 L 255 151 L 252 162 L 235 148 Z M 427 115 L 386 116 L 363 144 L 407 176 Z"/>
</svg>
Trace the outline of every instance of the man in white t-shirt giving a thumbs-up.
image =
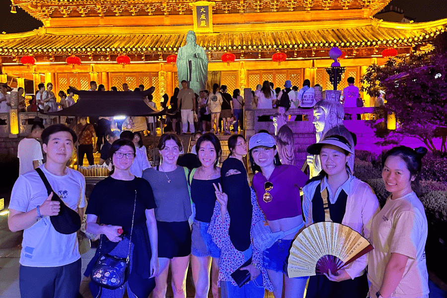
<svg viewBox="0 0 447 298">
<path fill-rule="evenodd" d="M 63 124 L 42 132 L 47 161 L 39 168 L 64 203 L 83 217 L 85 178 L 66 166 L 76 134 Z M 19 287 L 22 298 L 76 298 L 81 280 L 81 260 L 76 233 L 61 234 L 50 216 L 60 211 L 37 171 L 19 176 L 12 188 L 8 226 L 23 230 Z"/>
</svg>

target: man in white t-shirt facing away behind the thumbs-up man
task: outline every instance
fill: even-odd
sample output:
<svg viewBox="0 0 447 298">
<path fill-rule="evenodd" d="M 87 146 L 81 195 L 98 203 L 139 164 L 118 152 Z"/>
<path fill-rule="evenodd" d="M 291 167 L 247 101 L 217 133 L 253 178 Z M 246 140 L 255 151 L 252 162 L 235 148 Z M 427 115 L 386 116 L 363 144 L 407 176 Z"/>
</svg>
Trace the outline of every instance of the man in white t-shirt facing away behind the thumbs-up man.
<svg viewBox="0 0 447 298">
<path fill-rule="evenodd" d="M 17 157 L 19 158 L 19 175 L 32 171 L 42 164 L 42 148 L 40 147 L 40 139 L 45 126 L 38 123 L 31 127 L 31 133 L 21 140 L 18 149 Z"/>
</svg>

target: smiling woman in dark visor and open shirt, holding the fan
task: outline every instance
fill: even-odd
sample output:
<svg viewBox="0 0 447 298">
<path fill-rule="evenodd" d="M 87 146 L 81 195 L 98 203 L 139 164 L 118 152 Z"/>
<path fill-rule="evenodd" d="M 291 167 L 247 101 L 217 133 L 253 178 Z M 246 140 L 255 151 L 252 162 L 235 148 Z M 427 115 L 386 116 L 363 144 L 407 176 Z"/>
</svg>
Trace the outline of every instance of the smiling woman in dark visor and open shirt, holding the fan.
<svg viewBox="0 0 447 298">
<path fill-rule="evenodd" d="M 344 224 L 371 238 L 371 224 L 379 204 L 371 187 L 352 175 L 348 166 L 353 148 L 342 136 L 327 136 L 310 145 L 307 152 L 318 155 L 322 170 L 303 188 L 302 210 L 305 224 L 334 222 Z M 374 248 L 375 250 L 375 248 Z M 343 269 L 311 276 L 306 298 L 364 298 L 368 294 L 365 274 L 367 255 Z"/>
</svg>

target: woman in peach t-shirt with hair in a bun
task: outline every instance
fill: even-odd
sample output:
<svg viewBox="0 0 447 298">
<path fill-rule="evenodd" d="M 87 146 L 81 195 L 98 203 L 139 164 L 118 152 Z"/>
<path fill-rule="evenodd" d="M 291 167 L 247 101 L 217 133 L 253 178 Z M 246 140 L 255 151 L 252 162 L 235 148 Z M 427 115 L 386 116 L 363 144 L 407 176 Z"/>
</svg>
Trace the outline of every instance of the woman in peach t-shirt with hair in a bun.
<svg viewBox="0 0 447 298">
<path fill-rule="evenodd" d="M 370 296 L 428 298 L 425 257 L 427 217 L 413 189 L 418 187 L 427 149 L 405 146 L 382 156 L 382 179 L 391 195 L 373 219 L 369 253 Z"/>
</svg>

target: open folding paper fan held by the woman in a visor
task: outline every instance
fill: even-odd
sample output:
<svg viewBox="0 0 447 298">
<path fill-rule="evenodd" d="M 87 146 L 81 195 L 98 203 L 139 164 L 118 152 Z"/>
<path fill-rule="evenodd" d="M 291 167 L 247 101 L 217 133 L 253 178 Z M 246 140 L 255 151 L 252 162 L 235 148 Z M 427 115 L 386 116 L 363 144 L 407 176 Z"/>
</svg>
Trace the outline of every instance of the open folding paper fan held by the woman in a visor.
<svg viewBox="0 0 447 298">
<path fill-rule="evenodd" d="M 321 222 L 304 228 L 295 238 L 287 260 L 289 277 L 335 273 L 373 249 L 349 226 Z"/>
</svg>

